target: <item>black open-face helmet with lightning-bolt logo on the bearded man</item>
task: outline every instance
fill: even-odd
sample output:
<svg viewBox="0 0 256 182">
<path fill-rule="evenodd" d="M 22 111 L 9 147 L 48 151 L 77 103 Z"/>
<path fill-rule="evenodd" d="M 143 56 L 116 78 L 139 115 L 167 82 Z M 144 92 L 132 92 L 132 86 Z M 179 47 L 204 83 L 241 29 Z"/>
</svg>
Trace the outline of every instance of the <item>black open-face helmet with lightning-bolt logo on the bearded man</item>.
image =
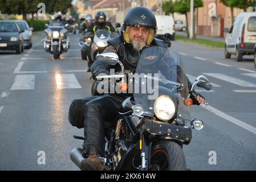
<svg viewBox="0 0 256 182">
<path fill-rule="evenodd" d="M 151 10 L 146 7 L 134 7 L 129 10 L 124 17 L 122 32 L 125 42 L 130 42 L 129 32 L 126 31 L 127 26 L 145 26 L 151 28 L 147 44 L 151 44 L 157 31 L 156 17 Z"/>
</svg>

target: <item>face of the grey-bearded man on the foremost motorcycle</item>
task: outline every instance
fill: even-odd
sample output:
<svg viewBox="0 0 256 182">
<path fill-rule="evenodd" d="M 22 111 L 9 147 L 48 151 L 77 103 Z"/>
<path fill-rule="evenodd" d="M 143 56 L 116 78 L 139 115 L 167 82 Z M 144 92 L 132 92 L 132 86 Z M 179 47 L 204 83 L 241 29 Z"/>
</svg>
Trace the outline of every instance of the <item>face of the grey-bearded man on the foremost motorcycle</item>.
<svg viewBox="0 0 256 182">
<path fill-rule="evenodd" d="M 149 27 L 133 27 L 131 26 L 129 31 L 129 38 L 131 42 L 136 40 L 137 42 L 147 42 L 150 33 Z"/>
</svg>

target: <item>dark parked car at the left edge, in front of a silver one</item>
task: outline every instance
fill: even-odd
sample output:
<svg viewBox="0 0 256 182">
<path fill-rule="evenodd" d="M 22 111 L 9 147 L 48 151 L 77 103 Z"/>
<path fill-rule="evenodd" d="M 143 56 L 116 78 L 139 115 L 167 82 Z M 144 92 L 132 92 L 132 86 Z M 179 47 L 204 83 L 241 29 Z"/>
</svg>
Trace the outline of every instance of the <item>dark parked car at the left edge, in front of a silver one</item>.
<svg viewBox="0 0 256 182">
<path fill-rule="evenodd" d="M 0 20 L 0 50 L 23 52 L 23 32 L 15 21 Z"/>
</svg>

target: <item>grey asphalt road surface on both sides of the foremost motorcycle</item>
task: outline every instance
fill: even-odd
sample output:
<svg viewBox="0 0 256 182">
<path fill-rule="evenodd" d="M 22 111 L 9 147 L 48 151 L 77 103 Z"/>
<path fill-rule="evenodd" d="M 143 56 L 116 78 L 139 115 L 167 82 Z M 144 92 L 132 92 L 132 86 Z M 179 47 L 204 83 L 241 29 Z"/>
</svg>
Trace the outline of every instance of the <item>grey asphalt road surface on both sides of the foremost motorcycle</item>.
<svg viewBox="0 0 256 182">
<path fill-rule="evenodd" d="M 71 48 L 60 60 L 43 50 L 43 32 L 36 32 L 32 49 L 21 55 L 0 53 L 0 170 L 78 170 L 69 155 L 82 143 L 72 135 L 83 136 L 83 129 L 70 125 L 68 107 L 75 98 L 91 96 L 92 81 L 80 59 L 80 35 L 69 36 Z M 172 49 L 180 53 L 189 78 L 203 74 L 213 83 L 210 92 L 198 89 L 209 106 L 192 107 L 192 117 L 202 118 L 205 127 L 193 131 L 192 142 L 184 146 L 188 168 L 255 170 L 252 57 L 237 63 L 233 56 L 225 59 L 223 49 L 179 42 Z M 38 164 L 40 151 L 45 164 Z"/>
</svg>

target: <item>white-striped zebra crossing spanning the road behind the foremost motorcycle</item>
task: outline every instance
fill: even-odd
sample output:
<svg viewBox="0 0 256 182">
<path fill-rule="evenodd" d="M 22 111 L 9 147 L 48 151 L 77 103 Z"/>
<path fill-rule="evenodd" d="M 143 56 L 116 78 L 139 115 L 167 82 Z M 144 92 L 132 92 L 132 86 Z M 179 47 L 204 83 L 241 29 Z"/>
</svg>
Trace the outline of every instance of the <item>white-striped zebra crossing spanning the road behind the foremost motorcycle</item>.
<svg viewBox="0 0 256 182">
<path fill-rule="evenodd" d="M 69 72 L 62 72 L 62 73 L 58 73 L 55 75 L 50 75 L 50 76 L 54 76 L 54 80 L 55 80 L 55 86 L 57 89 L 80 89 L 83 88 L 83 86 L 80 84 L 80 82 L 78 81 L 78 79 L 76 78 L 75 74 L 80 74 L 79 72 L 75 72 L 71 73 L 71 71 Z M 226 81 L 229 82 L 231 84 L 234 84 L 237 88 L 237 86 L 241 86 L 241 88 L 245 88 L 246 89 L 235 89 L 233 90 L 233 92 L 236 93 L 255 93 L 256 92 L 256 79 L 255 82 L 249 82 L 249 81 L 245 81 L 242 80 L 241 78 L 237 78 L 237 77 L 231 77 L 225 74 L 221 74 L 221 73 L 202 73 L 202 75 L 205 75 L 209 78 L 209 80 L 211 80 L 211 78 L 215 78 L 217 80 L 221 80 L 221 81 Z M 256 78 L 256 73 L 241 73 L 241 75 L 243 76 L 247 76 L 247 77 L 252 77 L 252 78 Z M 36 75 L 36 77 L 39 77 L 40 75 Z M 191 82 L 193 82 L 196 77 L 187 74 L 189 80 Z M 35 74 L 25 74 L 25 75 L 16 75 L 14 78 L 14 83 L 11 86 L 10 90 L 33 90 L 35 89 L 35 82 L 36 82 L 36 77 Z M 210 81 L 213 85 L 213 90 L 211 92 L 216 92 L 217 88 L 220 88 L 221 85 L 216 84 L 212 81 Z M 253 89 L 253 90 L 252 90 Z M 204 92 L 204 89 L 198 89 L 198 91 L 200 92 Z M 209 92 L 209 91 L 207 91 Z"/>
</svg>

